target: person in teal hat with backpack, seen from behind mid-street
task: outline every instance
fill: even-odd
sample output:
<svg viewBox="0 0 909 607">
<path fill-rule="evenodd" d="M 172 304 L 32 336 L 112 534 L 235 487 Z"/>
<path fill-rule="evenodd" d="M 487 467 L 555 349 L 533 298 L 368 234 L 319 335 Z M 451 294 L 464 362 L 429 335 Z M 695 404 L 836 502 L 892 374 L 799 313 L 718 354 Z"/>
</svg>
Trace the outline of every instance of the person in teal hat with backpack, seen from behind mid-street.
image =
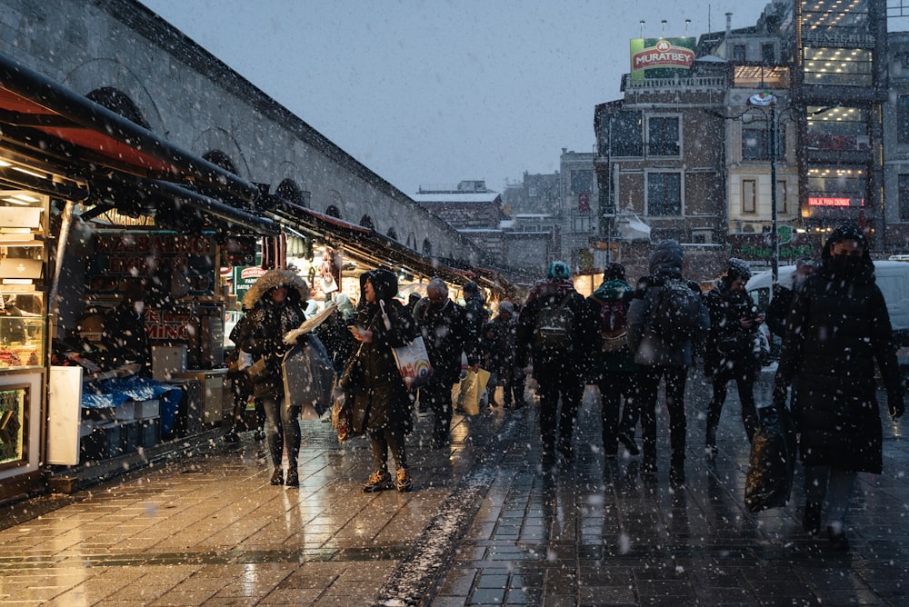
<svg viewBox="0 0 909 607">
<path fill-rule="evenodd" d="M 527 365 L 528 355 L 533 357 L 544 460 L 554 457 L 556 446 L 565 462 L 574 458 L 572 435 L 584 395 L 586 359 L 595 345 L 594 327 L 568 264 L 549 264 L 546 278 L 534 284 L 518 317 L 515 353 L 520 367 Z"/>
</svg>

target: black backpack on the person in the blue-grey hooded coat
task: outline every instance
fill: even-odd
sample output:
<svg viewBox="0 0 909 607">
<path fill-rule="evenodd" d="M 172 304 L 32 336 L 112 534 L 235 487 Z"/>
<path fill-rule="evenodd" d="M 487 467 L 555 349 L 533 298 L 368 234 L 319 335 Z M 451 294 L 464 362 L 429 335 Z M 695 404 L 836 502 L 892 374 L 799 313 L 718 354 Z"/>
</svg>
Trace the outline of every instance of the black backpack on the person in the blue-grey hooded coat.
<svg viewBox="0 0 909 607">
<path fill-rule="evenodd" d="M 669 346 L 680 346 L 700 332 L 701 294 L 684 280 L 667 278 L 656 294 L 646 327 Z"/>
</svg>

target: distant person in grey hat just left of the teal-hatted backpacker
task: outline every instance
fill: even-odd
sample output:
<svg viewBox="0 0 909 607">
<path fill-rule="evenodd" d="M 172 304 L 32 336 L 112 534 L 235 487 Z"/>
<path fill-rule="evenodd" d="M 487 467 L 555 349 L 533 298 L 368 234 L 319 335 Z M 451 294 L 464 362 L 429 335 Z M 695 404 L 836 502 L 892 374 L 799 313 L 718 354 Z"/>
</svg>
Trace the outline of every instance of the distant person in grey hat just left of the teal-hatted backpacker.
<svg viewBox="0 0 909 607">
<path fill-rule="evenodd" d="M 518 369 L 514 364 L 514 342 L 517 336 L 517 318 L 514 316 L 514 304 L 509 301 L 499 302 L 498 313 L 486 323 L 484 342 L 488 368 L 496 379 L 489 388 L 489 405 L 498 406 L 495 402 L 495 388 L 502 386 L 504 409 L 520 409 L 524 406 L 524 383 L 517 385 Z M 497 384 L 497 385 L 496 385 Z M 519 392 L 520 391 L 520 392 Z"/>
</svg>

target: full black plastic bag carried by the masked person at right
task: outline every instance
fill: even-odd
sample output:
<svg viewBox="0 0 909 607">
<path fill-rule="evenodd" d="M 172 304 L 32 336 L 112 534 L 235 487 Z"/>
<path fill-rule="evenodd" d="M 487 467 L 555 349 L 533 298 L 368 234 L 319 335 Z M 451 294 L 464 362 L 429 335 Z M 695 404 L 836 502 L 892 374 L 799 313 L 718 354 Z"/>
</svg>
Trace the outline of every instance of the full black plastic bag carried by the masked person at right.
<svg viewBox="0 0 909 607">
<path fill-rule="evenodd" d="M 744 505 L 749 512 L 779 508 L 789 501 L 795 471 L 792 418 L 785 408 L 762 407 L 761 420 L 751 441 L 751 456 L 744 484 Z"/>
</svg>

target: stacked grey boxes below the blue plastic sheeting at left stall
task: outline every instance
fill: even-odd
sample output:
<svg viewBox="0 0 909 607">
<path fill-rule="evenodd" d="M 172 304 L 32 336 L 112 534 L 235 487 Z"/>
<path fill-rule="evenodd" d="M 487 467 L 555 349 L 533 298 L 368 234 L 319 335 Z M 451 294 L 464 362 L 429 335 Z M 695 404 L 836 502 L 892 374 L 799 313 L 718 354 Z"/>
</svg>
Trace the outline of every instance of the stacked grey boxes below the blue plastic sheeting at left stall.
<svg viewBox="0 0 909 607">
<path fill-rule="evenodd" d="M 82 410 L 80 461 L 133 453 L 161 440 L 161 403 L 126 401 L 115 407 Z"/>
</svg>

